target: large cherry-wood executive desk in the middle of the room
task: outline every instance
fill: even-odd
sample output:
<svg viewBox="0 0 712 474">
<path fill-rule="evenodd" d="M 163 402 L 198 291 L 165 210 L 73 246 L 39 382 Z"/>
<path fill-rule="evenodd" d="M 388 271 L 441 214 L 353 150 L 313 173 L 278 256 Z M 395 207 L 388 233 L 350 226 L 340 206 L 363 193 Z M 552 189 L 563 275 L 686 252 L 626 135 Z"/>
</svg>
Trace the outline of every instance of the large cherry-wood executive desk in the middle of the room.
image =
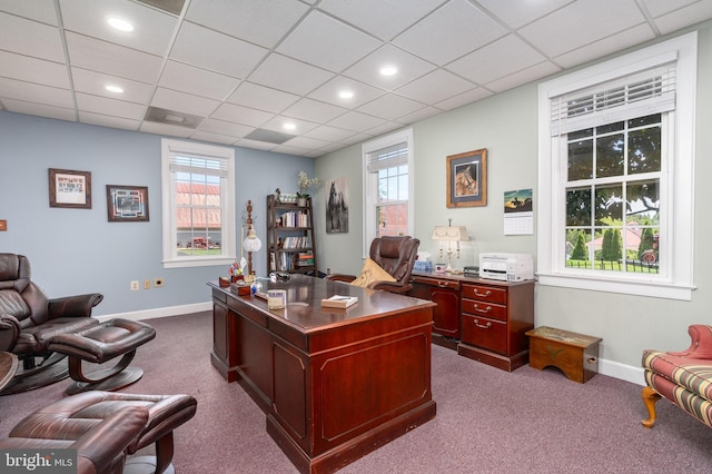
<svg viewBox="0 0 712 474">
<path fill-rule="evenodd" d="M 212 365 L 267 415 L 303 473 L 328 473 L 435 416 L 431 302 L 293 275 L 285 309 L 215 282 Z M 322 298 L 358 296 L 347 309 Z"/>
</svg>

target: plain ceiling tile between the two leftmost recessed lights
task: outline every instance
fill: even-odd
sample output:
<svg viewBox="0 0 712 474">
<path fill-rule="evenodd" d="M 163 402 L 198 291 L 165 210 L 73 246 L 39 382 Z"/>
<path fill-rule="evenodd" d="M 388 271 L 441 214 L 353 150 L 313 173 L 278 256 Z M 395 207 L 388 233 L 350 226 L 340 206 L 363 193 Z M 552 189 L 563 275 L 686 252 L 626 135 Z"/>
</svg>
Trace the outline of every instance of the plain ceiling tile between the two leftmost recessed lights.
<svg viewBox="0 0 712 474">
<path fill-rule="evenodd" d="M 158 56 L 67 32 L 71 65 L 155 85 L 162 60 Z"/>
</svg>

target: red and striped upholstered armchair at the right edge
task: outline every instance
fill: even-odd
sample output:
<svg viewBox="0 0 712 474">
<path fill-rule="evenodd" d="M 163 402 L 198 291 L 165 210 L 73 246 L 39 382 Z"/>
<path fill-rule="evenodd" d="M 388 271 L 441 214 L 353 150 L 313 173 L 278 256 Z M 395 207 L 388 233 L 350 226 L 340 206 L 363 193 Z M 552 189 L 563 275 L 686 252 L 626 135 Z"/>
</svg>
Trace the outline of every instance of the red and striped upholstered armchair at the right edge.
<svg viewBox="0 0 712 474">
<path fill-rule="evenodd" d="M 692 344 L 686 350 L 643 350 L 645 427 L 655 424 L 655 402 L 661 397 L 712 427 L 712 326 L 692 325 L 688 333 Z"/>
</svg>

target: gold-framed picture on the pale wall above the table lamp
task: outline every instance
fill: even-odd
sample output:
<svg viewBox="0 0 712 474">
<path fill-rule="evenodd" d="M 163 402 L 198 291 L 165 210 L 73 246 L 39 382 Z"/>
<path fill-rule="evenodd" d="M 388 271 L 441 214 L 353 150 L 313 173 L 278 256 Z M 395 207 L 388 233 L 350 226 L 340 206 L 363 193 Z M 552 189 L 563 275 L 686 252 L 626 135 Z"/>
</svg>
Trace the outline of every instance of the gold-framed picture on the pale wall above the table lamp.
<svg viewBox="0 0 712 474">
<path fill-rule="evenodd" d="M 487 149 L 447 157 L 447 207 L 487 205 Z"/>
</svg>

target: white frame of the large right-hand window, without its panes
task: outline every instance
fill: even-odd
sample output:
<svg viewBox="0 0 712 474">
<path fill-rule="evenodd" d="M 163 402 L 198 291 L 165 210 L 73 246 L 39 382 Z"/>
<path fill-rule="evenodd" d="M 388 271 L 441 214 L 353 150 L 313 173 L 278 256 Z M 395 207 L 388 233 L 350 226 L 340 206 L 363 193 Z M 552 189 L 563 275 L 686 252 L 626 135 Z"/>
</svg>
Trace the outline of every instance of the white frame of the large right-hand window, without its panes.
<svg viewBox="0 0 712 474">
<path fill-rule="evenodd" d="M 558 194 L 566 182 L 563 154 L 554 150 L 552 136 L 552 98 L 585 89 L 596 83 L 633 75 L 675 59 L 676 103 L 669 113 L 670 136 L 668 194 L 661 196 L 666 207 L 665 226 L 669 261 L 665 275 L 644 278 L 631 273 L 578 273 L 566 270 L 565 196 Z M 696 106 L 696 32 L 643 48 L 639 51 L 585 68 L 538 87 L 538 201 L 537 276 L 541 285 L 589 289 L 671 299 L 692 299 L 694 263 L 694 161 Z"/>
</svg>

